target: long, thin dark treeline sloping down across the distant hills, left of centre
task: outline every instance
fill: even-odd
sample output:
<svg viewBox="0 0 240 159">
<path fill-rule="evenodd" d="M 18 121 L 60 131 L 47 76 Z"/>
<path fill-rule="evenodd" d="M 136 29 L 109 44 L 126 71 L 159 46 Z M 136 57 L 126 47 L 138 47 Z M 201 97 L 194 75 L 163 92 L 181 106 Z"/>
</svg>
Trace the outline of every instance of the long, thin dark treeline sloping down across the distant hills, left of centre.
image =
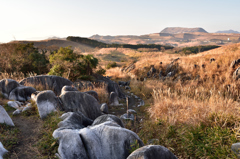
<svg viewBox="0 0 240 159">
<path fill-rule="evenodd" d="M 131 44 L 106 44 L 103 42 L 99 42 L 97 40 L 92 40 L 88 38 L 82 38 L 82 37 L 73 37 L 69 36 L 67 37 L 67 40 L 74 41 L 81 44 L 86 44 L 92 47 L 99 47 L 99 48 L 129 48 L 129 49 L 139 49 L 139 48 L 157 48 L 158 50 L 161 50 L 164 48 L 167 49 L 173 49 L 172 46 L 166 46 L 166 45 L 156 45 L 156 44 L 137 44 L 137 45 L 131 45 Z"/>
</svg>

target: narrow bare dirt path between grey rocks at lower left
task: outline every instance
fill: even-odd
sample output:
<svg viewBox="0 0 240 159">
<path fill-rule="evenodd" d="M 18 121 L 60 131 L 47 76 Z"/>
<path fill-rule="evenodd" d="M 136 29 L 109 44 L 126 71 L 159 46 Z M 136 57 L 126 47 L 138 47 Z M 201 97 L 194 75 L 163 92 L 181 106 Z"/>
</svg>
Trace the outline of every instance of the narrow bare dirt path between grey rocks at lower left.
<svg viewBox="0 0 240 159">
<path fill-rule="evenodd" d="M 12 118 L 15 126 L 20 130 L 19 144 L 13 150 L 11 159 L 35 159 L 39 158 L 40 153 L 36 146 L 40 135 L 43 121 L 36 116 L 14 116 Z"/>
</svg>

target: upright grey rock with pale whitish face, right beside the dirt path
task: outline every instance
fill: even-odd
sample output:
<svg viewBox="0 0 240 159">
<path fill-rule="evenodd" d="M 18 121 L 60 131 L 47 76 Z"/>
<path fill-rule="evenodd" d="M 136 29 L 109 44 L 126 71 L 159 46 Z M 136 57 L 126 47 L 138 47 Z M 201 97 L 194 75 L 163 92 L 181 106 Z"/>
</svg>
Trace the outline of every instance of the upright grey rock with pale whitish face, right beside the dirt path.
<svg viewBox="0 0 240 159">
<path fill-rule="evenodd" d="M 46 118 L 48 114 L 57 111 L 58 100 L 53 91 L 47 90 L 38 93 L 36 103 L 40 118 Z"/>
</svg>

